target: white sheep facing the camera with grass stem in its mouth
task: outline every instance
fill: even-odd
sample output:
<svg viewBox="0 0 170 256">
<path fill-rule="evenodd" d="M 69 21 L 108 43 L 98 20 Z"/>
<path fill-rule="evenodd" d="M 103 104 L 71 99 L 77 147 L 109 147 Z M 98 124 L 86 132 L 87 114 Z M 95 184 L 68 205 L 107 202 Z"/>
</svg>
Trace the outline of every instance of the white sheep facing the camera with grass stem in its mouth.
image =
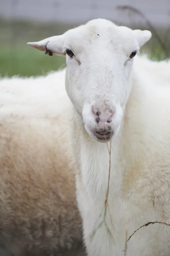
<svg viewBox="0 0 170 256">
<path fill-rule="evenodd" d="M 50 55 L 66 54 L 77 201 L 88 256 L 122 256 L 126 230 L 130 236 L 149 221 L 170 223 L 170 61 L 135 57 L 150 37 L 147 30 L 96 19 L 28 43 Z M 140 229 L 126 255 L 169 256 L 170 227 Z"/>
</svg>

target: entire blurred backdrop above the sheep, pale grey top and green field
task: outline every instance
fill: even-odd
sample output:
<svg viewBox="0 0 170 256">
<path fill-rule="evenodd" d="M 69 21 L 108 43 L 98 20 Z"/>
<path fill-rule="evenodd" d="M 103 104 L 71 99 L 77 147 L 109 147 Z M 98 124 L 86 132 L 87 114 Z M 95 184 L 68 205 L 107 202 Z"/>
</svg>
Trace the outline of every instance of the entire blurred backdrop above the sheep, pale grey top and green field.
<svg viewBox="0 0 170 256">
<path fill-rule="evenodd" d="M 26 45 L 94 18 L 149 29 L 141 49 L 150 58 L 170 56 L 170 0 L 0 0 L 0 76 L 35 76 L 65 67 L 65 58 Z"/>
</svg>

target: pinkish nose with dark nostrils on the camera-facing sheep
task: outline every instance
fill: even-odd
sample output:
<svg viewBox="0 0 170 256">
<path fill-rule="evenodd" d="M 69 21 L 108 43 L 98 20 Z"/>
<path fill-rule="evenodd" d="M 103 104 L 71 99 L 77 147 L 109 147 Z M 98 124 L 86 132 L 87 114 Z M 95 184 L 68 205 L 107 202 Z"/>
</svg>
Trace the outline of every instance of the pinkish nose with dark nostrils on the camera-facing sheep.
<svg viewBox="0 0 170 256">
<path fill-rule="evenodd" d="M 112 122 L 112 117 L 114 115 L 113 109 L 105 109 L 102 111 L 99 108 L 92 108 L 92 112 L 95 114 L 96 122 L 99 124 L 101 123 L 110 123 Z"/>
</svg>

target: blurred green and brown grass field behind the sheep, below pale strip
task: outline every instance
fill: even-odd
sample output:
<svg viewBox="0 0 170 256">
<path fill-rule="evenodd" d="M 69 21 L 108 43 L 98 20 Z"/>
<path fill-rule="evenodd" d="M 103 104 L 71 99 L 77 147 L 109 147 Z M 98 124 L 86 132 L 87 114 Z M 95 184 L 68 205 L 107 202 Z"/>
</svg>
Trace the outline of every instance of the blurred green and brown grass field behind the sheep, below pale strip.
<svg viewBox="0 0 170 256">
<path fill-rule="evenodd" d="M 1 76 L 36 76 L 57 70 L 65 66 L 65 58 L 47 56 L 26 43 L 39 41 L 52 35 L 59 35 L 79 24 L 37 24 L 24 21 L 0 20 L 0 75 Z M 137 27 L 139 29 L 139 27 Z M 142 28 L 148 29 L 148 28 Z M 170 31 L 161 29 L 157 31 L 164 44 L 153 38 L 142 48 L 150 58 L 162 60 L 170 52 Z M 169 36 L 169 38 L 168 38 Z M 164 49 L 166 48 L 166 50 Z"/>
</svg>

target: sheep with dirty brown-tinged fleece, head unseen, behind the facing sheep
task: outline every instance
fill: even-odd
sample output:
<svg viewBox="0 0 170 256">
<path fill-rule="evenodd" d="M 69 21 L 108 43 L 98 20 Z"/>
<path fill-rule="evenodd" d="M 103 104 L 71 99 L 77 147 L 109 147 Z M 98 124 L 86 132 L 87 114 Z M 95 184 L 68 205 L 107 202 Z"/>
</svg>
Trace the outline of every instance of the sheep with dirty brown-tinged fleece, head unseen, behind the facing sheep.
<svg viewBox="0 0 170 256">
<path fill-rule="evenodd" d="M 65 71 L 0 80 L 0 256 L 83 256 Z"/>
</svg>

